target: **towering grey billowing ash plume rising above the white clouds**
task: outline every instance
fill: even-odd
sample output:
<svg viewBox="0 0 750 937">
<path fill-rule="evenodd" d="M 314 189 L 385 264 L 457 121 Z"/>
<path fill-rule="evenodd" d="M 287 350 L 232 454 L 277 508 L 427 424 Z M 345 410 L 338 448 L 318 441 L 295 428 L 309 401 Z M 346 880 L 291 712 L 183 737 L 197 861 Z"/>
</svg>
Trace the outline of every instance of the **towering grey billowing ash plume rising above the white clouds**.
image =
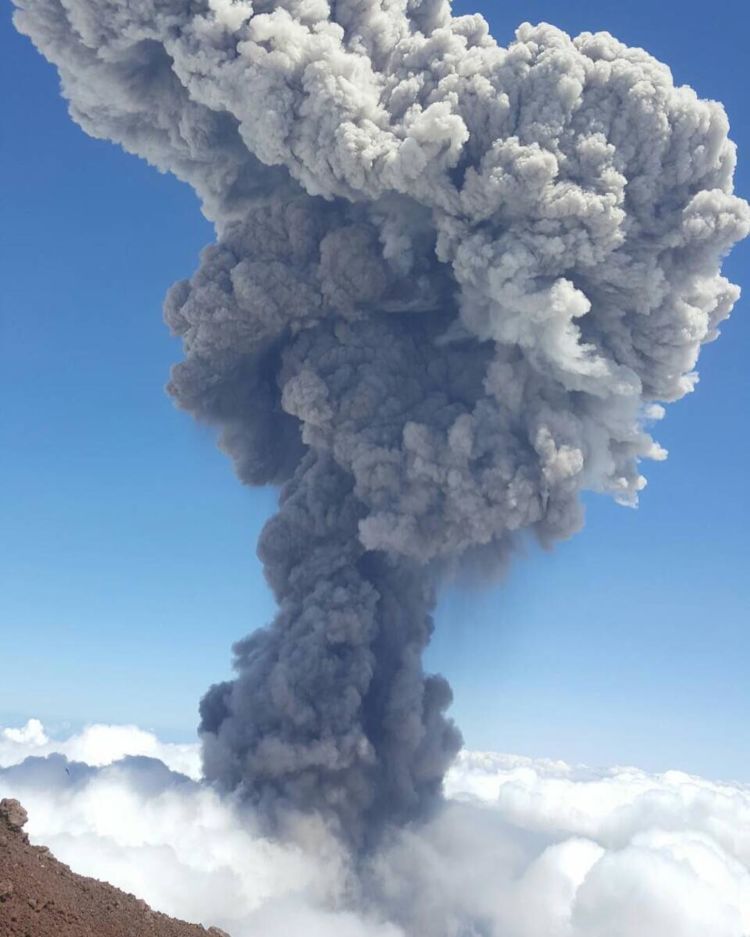
<svg viewBox="0 0 750 937">
<path fill-rule="evenodd" d="M 442 0 L 17 0 L 71 113 L 217 227 L 166 318 L 177 403 L 249 484 L 279 602 L 202 705 L 208 778 L 355 840 L 459 735 L 436 577 L 633 504 L 750 227 L 720 105 L 607 34 L 499 47 Z"/>
</svg>

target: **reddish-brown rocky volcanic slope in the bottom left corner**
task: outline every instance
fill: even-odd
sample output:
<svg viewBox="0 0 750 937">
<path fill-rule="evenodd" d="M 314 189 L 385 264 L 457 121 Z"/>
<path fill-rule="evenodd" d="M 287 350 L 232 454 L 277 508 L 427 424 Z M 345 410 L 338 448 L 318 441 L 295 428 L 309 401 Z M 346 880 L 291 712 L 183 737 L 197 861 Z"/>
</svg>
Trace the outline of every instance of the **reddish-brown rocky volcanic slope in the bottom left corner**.
<svg viewBox="0 0 750 937">
<path fill-rule="evenodd" d="M 0 937 L 228 937 L 76 875 L 46 846 L 29 844 L 25 823 L 17 800 L 0 801 Z"/>
</svg>

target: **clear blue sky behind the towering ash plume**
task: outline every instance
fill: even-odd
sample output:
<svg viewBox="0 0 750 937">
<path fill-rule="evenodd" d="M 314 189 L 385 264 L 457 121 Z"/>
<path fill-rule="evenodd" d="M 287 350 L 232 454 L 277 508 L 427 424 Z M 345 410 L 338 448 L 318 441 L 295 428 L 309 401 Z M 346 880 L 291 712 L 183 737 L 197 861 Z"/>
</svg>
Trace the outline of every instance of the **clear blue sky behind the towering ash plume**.
<svg viewBox="0 0 750 937">
<path fill-rule="evenodd" d="M 497 9 L 500 7 L 501 9 Z M 750 195 L 739 2 L 462 0 L 507 41 L 523 20 L 608 29 L 722 100 Z M 180 357 L 170 283 L 212 238 L 191 191 L 74 126 L 55 73 L 2 13 L 0 721 L 129 721 L 187 738 L 229 646 L 273 603 L 243 489 L 163 391 Z M 747 157 L 747 159 L 743 159 Z M 726 265 L 750 295 L 750 246 Z M 637 511 L 499 586 L 447 589 L 428 655 L 473 747 L 750 781 L 750 300 L 659 427 Z"/>
</svg>

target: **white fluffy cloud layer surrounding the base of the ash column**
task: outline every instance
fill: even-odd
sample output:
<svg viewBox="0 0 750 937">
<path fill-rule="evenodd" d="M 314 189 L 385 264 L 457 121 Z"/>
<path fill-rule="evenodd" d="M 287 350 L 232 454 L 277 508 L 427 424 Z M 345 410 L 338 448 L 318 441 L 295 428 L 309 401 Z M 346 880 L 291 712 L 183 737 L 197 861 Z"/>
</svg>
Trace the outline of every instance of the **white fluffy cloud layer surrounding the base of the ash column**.
<svg viewBox="0 0 750 937">
<path fill-rule="evenodd" d="M 99 767 L 68 774 L 54 752 Z M 232 937 L 750 934 L 748 787 L 464 752 L 445 809 L 355 875 L 320 824 L 270 842 L 232 801 L 123 754 L 196 773 L 194 748 L 132 726 L 54 742 L 32 721 L 0 731 L 0 796 L 76 871 Z"/>
</svg>

